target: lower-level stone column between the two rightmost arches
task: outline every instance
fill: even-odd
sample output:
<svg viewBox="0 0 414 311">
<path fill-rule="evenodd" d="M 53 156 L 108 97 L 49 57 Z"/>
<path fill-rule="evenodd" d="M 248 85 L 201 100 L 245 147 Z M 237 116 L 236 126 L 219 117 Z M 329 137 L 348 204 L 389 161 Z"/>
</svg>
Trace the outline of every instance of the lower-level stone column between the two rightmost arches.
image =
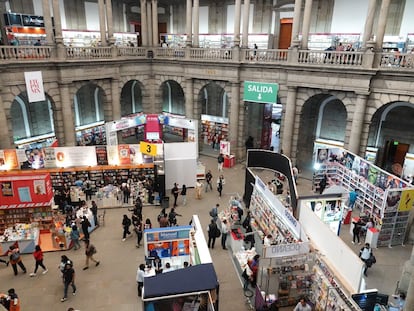
<svg viewBox="0 0 414 311">
<path fill-rule="evenodd" d="M 359 154 L 367 100 L 367 95 L 357 94 L 356 96 L 355 110 L 352 115 L 351 133 L 349 134 L 348 143 L 348 150 L 355 154 Z"/>
</svg>

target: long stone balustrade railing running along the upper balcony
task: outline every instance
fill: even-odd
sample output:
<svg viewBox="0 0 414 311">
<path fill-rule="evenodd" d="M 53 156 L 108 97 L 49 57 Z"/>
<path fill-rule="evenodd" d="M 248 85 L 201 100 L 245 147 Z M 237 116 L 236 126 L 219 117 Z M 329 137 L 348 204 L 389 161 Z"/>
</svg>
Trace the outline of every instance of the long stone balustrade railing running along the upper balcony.
<svg viewBox="0 0 414 311">
<path fill-rule="evenodd" d="M 59 50 L 60 49 L 60 50 Z M 58 53 L 61 51 L 61 53 Z M 54 46 L 0 46 L 0 63 L 24 61 L 50 61 L 66 59 L 91 61 L 99 59 L 154 58 L 226 63 L 273 63 L 289 65 L 317 65 L 348 68 L 387 68 L 387 70 L 413 70 L 414 54 L 355 51 L 314 51 L 279 49 L 215 49 L 215 48 L 151 48 L 151 47 L 62 47 Z"/>
</svg>

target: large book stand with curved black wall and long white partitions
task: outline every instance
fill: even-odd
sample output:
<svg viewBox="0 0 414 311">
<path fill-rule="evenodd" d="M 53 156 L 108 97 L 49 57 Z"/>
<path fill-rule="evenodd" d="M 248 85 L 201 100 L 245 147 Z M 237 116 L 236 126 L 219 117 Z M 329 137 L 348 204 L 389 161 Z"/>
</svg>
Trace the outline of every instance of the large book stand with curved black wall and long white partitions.
<svg viewBox="0 0 414 311">
<path fill-rule="evenodd" d="M 249 210 L 257 230 L 262 236 L 271 235 L 269 246 L 263 245 L 261 252 L 261 247 L 256 247 L 261 254 L 254 298 L 256 309 L 274 301 L 279 306 L 294 306 L 305 296 L 315 310 L 360 310 L 350 296 L 363 288 L 363 262 L 337 236 L 343 194 L 315 196 L 307 201 L 297 201 L 296 196 L 291 196 L 289 205 L 254 176 L 249 166 L 249 162 L 254 164 L 252 167 L 274 166 L 274 156 L 253 152 L 254 159 L 248 159 L 246 168 L 245 197 L 249 197 Z M 249 151 L 248 158 L 250 155 Z M 284 167 L 284 157 L 279 155 L 278 159 L 282 163 L 279 162 L 277 172 L 286 176 L 290 193 L 296 194 L 290 161 L 287 159 Z M 316 204 L 318 213 L 312 210 Z M 350 268 L 339 269 L 339 262 L 342 268 L 348 265 Z M 240 264 L 239 267 L 242 269 Z"/>
</svg>

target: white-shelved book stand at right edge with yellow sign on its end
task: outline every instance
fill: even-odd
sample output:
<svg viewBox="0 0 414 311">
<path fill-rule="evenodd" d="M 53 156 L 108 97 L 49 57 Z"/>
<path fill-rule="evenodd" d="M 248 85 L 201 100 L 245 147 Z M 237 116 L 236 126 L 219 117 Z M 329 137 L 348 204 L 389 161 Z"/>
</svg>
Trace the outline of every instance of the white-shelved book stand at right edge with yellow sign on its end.
<svg viewBox="0 0 414 311">
<path fill-rule="evenodd" d="M 377 246 L 404 244 L 413 207 L 411 184 L 342 148 L 316 150 L 315 190 L 324 176 L 325 191 L 340 185 L 358 193 L 354 208 L 374 220 L 379 231 Z"/>
</svg>

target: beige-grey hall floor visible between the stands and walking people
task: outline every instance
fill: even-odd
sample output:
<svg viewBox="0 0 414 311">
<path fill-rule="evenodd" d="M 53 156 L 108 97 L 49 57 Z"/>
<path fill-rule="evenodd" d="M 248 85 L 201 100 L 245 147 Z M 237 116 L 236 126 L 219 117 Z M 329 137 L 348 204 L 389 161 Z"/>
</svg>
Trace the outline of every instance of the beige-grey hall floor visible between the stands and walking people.
<svg viewBox="0 0 414 311">
<path fill-rule="evenodd" d="M 201 156 L 201 161 L 211 169 L 217 177 L 216 158 Z M 223 207 L 228 204 L 229 198 L 235 193 L 243 194 L 244 167 L 237 164 L 231 169 L 225 169 L 226 185 L 224 195 L 218 198 L 216 191 L 203 193 L 202 200 L 195 200 L 194 190 L 190 189 L 187 195 L 187 205 L 179 206 L 179 224 L 187 224 L 191 215 L 200 216 L 202 225 L 207 227 L 208 212 L 213 205 L 220 203 Z M 309 194 L 310 181 L 299 180 L 299 193 Z M 159 207 L 144 207 L 144 217 L 149 217 L 156 223 Z M 28 274 L 14 276 L 11 267 L 0 264 L 0 292 L 14 287 L 21 298 L 22 311 L 66 311 L 74 307 L 81 311 L 137 311 L 142 310 L 140 300 L 136 295 L 136 269 L 143 262 L 142 248 L 135 247 L 135 237 L 125 242 L 121 241 L 122 215 L 128 213 L 126 208 L 108 209 L 105 216 L 105 226 L 101 226 L 91 235 L 96 245 L 97 259 L 101 261 L 99 267 L 91 266 L 83 271 L 84 251 L 52 252 L 45 254 L 45 265 L 49 268 L 46 275 L 31 278 Z M 350 247 L 357 252 L 359 248 L 350 243 L 351 236 L 346 226 L 342 228 L 341 236 Z M 382 248 L 376 251 L 378 263 L 370 271 L 367 279 L 370 288 L 378 288 L 381 292 L 392 294 L 399 280 L 403 263 L 409 259 L 412 246 Z M 75 263 L 76 296 L 69 295 L 69 299 L 62 303 L 63 284 L 58 270 L 60 256 L 67 255 Z M 243 296 L 240 278 L 231 259 L 231 252 L 216 247 L 211 251 L 214 266 L 220 281 L 220 310 L 243 311 L 249 310 Z M 31 255 L 24 255 L 23 261 L 31 272 L 34 268 L 34 259 Z M 344 267 L 346 270 L 346 267 Z M 70 292 L 70 291 L 69 291 Z"/>
</svg>

